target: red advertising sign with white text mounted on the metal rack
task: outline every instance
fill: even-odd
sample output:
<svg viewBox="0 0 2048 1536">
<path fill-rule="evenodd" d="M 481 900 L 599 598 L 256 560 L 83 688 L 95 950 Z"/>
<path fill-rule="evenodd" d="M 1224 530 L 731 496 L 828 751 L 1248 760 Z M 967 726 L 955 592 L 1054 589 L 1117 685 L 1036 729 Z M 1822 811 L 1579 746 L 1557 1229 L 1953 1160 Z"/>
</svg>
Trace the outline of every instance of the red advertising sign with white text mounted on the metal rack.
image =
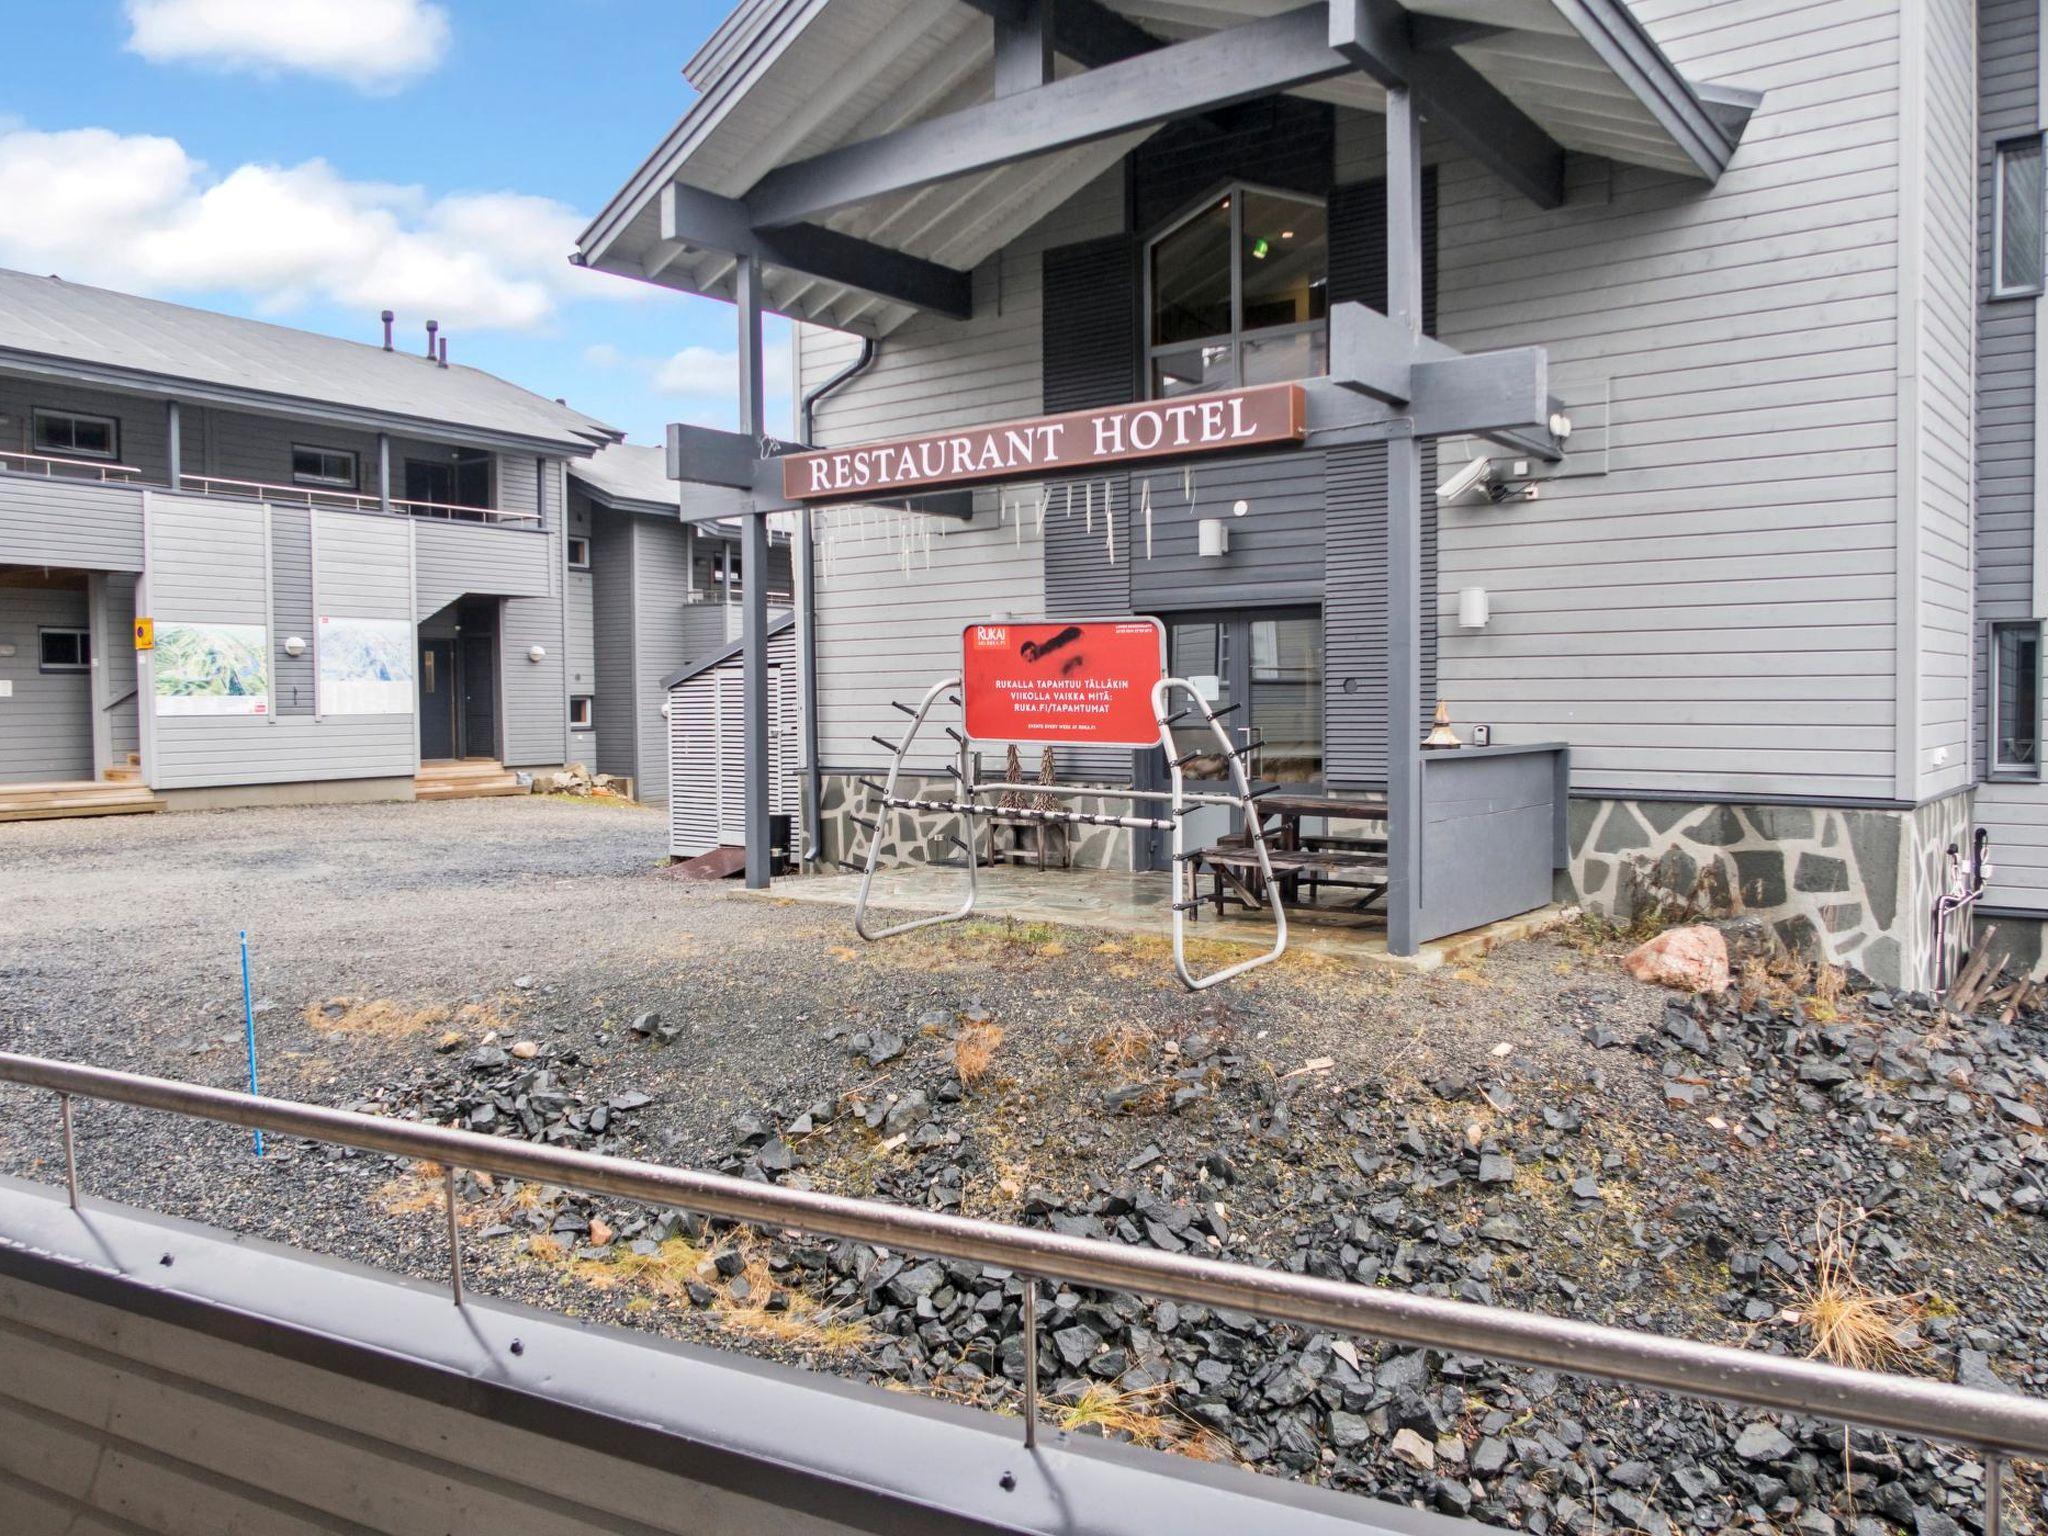
<svg viewBox="0 0 2048 1536">
<path fill-rule="evenodd" d="M 1153 748 L 1151 690 L 1165 676 L 1157 618 L 969 625 L 961 698 L 977 741 Z"/>
</svg>

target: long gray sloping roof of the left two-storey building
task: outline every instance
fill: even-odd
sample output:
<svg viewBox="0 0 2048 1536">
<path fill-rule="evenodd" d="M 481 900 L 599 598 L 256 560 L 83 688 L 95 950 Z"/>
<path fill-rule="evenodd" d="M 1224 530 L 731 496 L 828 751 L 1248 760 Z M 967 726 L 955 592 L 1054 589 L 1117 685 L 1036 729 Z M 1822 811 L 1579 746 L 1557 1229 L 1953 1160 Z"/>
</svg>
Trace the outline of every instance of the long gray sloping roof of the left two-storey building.
<svg viewBox="0 0 2048 1536">
<path fill-rule="evenodd" d="M 6 268 L 0 369 L 563 455 L 621 436 L 479 369 Z"/>
</svg>

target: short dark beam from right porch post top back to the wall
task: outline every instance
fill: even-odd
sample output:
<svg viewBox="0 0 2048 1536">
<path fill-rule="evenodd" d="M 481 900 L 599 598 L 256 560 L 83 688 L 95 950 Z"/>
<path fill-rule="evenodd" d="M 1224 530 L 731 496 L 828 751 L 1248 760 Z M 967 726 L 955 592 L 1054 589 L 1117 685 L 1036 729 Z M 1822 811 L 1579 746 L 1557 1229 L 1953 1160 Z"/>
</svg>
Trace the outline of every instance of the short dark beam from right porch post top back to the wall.
<svg viewBox="0 0 2048 1536">
<path fill-rule="evenodd" d="M 1565 150 L 1450 49 L 1421 49 L 1397 0 L 1329 0 L 1329 45 L 1540 209 L 1565 201 Z"/>
</svg>

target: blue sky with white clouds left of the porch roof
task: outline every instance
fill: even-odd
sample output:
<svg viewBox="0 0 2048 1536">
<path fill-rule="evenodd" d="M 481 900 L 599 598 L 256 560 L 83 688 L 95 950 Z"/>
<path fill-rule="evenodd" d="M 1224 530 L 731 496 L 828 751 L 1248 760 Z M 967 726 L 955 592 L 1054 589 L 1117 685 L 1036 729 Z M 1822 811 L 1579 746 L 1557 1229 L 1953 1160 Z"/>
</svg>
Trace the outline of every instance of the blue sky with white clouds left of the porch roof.
<svg viewBox="0 0 2048 1536">
<path fill-rule="evenodd" d="M 0 51 L 0 266 L 399 342 L 657 442 L 733 311 L 563 260 L 692 100 L 719 0 L 68 0 Z M 780 328 L 770 358 L 784 360 Z M 776 369 L 780 373 L 780 367 Z M 770 424 L 788 418 L 774 387 Z"/>
</svg>

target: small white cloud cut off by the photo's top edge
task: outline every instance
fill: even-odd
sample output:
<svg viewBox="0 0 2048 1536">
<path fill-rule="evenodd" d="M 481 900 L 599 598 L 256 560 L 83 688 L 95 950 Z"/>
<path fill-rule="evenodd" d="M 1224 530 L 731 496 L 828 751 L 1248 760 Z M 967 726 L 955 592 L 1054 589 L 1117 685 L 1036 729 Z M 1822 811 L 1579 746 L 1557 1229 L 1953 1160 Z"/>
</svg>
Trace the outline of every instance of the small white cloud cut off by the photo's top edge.
<svg viewBox="0 0 2048 1536">
<path fill-rule="evenodd" d="M 426 0 L 127 0 L 129 51 L 152 63 L 344 80 L 395 90 L 440 63 L 449 12 Z"/>
</svg>

